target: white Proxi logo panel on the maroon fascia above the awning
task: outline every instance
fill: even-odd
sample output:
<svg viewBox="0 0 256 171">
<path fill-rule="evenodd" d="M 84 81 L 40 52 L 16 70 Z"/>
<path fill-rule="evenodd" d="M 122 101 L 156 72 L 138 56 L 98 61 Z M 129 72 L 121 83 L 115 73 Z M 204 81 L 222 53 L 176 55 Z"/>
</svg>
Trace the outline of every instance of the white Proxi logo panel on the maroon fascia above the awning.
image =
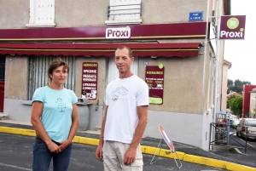
<svg viewBox="0 0 256 171">
<path fill-rule="evenodd" d="M 117 28 L 108 28 L 106 29 L 106 38 L 130 38 L 131 37 L 131 28 L 126 27 L 117 27 Z"/>
</svg>

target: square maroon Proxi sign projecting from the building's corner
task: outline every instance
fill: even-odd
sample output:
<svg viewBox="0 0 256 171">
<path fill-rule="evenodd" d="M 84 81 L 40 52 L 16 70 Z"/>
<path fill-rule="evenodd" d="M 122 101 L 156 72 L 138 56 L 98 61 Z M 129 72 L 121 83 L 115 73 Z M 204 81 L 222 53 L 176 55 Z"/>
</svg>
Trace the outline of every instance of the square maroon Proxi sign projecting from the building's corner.
<svg viewBox="0 0 256 171">
<path fill-rule="evenodd" d="M 219 39 L 244 39 L 245 15 L 221 16 Z"/>
</svg>

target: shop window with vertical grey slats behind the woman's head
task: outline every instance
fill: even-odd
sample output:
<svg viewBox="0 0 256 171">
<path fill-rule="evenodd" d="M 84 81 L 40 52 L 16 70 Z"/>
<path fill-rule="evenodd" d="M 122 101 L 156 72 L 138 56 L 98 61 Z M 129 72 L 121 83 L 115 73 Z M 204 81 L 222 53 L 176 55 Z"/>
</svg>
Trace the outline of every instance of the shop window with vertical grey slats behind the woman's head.
<svg viewBox="0 0 256 171">
<path fill-rule="evenodd" d="M 64 83 L 64 88 L 72 89 L 75 91 L 75 58 L 72 55 L 69 56 L 54 56 L 54 55 L 32 55 L 29 57 L 29 74 L 28 74 L 28 94 L 27 99 L 32 100 L 34 91 L 37 88 L 49 85 L 47 77 L 47 70 L 49 63 L 56 57 L 61 57 L 66 61 L 69 66 L 67 80 Z"/>
</svg>

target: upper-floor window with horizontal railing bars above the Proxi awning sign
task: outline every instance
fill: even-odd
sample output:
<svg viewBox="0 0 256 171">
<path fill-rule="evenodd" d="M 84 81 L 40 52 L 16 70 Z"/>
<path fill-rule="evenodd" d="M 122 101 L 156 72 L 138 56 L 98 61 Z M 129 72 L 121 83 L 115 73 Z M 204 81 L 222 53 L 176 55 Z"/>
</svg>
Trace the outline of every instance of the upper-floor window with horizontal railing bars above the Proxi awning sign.
<svg viewBox="0 0 256 171">
<path fill-rule="evenodd" d="M 107 25 L 141 24 L 141 0 L 110 0 Z"/>
</svg>

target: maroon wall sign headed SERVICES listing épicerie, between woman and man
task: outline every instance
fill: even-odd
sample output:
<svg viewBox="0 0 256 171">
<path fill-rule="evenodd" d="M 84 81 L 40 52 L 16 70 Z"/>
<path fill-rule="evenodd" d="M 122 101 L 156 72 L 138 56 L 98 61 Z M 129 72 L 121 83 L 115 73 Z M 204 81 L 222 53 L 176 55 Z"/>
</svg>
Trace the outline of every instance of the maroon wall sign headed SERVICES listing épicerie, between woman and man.
<svg viewBox="0 0 256 171">
<path fill-rule="evenodd" d="M 82 68 L 82 98 L 97 98 L 98 63 L 84 62 Z"/>
</svg>

